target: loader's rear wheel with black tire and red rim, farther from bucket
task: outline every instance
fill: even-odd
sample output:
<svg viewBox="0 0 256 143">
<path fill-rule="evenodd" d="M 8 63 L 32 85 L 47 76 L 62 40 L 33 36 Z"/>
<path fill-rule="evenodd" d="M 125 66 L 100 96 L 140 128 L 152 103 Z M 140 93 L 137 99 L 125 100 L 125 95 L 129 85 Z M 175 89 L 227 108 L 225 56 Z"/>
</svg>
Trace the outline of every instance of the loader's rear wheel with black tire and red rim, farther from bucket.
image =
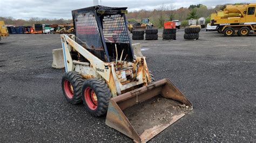
<svg viewBox="0 0 256 143">
<path fill-rule="evenodd" d="M 62 91 L 66 100 L 75 105 L 82 103 L 81 89 L 84 78 L 76 71 L 68 71 L 62 76 Z"/>
</svg>

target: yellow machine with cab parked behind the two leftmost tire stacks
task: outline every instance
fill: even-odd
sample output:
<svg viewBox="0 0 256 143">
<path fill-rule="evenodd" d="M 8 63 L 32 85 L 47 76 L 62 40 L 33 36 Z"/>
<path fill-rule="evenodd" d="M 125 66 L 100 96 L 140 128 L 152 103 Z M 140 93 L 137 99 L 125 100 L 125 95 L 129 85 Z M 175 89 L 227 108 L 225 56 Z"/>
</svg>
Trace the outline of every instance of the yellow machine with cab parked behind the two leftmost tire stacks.
<svg viewBox="0 0 256 143">
<path fill-rule="evenodd" d="M 129 28 L 130 32 L 133 30 L 146 30 L 147 28 L 154 28 L 154 25 L 150 22 L 149 18 L 143 18 L 142 22 L 135 23 Z"/>
</svg>

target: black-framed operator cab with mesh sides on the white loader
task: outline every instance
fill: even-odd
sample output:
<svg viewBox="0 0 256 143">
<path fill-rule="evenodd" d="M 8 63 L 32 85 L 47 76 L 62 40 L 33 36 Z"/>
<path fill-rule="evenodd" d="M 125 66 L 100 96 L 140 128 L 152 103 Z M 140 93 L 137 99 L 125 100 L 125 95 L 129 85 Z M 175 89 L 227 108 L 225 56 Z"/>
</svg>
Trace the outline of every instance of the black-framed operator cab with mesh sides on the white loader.
<svg viewBox="0 0 256 143">
<path fill-rule="evenodd" d="M 126 9 L 97 5 L 73 10 L 76 42 L 102 61 L 116 61 L 117 55 L 120 58 L 122 52 L 122 60 L 133 61 L 131 39 L 125 17 Z"/>
</svg>

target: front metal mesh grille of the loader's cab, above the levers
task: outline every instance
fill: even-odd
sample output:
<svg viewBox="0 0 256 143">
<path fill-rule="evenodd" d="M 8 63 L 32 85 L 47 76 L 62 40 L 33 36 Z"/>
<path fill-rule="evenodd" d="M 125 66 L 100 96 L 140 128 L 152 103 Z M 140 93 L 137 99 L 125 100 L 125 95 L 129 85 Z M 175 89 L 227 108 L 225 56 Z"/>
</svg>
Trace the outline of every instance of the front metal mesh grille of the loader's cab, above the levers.
<svg viewBox="0 0 256 143">
<path fill-rule="evenodd" d="M 129 35 L 121 15 L 104 16 L 103 35 L 106 42 L 129 43 Z"/>
</svg>

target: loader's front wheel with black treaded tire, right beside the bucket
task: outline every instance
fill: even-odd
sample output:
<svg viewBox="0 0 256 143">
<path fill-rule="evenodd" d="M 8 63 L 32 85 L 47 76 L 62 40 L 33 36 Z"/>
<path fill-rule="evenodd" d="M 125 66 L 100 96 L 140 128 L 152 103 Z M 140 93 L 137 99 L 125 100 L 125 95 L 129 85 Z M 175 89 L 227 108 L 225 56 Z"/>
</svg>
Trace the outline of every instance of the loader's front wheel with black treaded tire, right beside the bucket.
<svg viewBox="0 0 256 143">
<path fill-rule="evenodd" d="M 93 99 L 88 97 L 89 95 L 87 95 L 87 92 L 90 92 L 91 94 L 91 91 L 88 90 L 91 90 L 96 94 L 96 107 L 91 106 L 91 104 L 93 104 Z M 107 87 L 107 84 L 104 80 L 100 78 L 91 78 L 84 81 L 82 87 L 82 99 L 86 110 L 90 112 L 92 116 L 99 117 L 105 115 L 111 97 L 112 94 L 110 89 Z"/>
</svg>

